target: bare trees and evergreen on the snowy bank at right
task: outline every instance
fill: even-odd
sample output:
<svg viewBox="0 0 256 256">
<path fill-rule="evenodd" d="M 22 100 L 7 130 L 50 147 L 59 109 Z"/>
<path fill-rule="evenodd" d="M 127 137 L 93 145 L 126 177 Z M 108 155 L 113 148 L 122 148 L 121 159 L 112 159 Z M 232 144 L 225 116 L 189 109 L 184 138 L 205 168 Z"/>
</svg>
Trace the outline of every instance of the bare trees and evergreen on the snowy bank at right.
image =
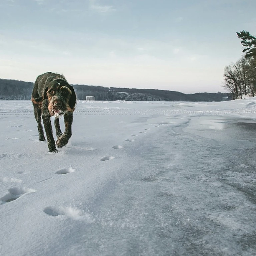
<svg viewBox="0 0 256 256">
<path fill-rule="evenodd" d="M 244 95 L 256 96 L 256 37 L 248 31 L 236 32 L 244 47 L 244 55 L 224 69 L 223 87 L 232 99 L 242 99 Z"/>
</svg>

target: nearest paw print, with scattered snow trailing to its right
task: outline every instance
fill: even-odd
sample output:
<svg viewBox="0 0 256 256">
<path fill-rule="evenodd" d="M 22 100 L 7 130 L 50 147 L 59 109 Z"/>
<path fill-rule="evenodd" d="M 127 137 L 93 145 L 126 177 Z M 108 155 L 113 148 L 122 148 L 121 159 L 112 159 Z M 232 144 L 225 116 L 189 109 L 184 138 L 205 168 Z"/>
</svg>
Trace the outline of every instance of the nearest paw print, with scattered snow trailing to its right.
<svg viewBox="0 0 256 256">
<path fill-rule="evenodd" d="M 75 207 L 46 207 L 44 208 L 44 213 L 47 215 L 57 217 L 57 216 L 66 216 L 71 219 L 75 220 L 85 220 L 88 223 L 92 223 L 95 221 L 95 219 L 92 217 L 91 214 L 83 213 L 80 209 L 77 209 Z"/>
</svg>

